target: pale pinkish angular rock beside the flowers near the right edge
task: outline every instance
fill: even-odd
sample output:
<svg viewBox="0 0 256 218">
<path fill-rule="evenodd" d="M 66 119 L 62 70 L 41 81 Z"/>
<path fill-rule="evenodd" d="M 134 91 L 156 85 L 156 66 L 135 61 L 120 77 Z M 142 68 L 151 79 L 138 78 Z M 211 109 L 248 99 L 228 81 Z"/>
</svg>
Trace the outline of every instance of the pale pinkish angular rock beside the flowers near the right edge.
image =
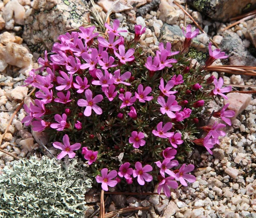
<svg viewBox="0 0 256 218">
<path fill-rule="evenodd" d="M 227 98 L 228 100 L 224 99 L 223 103 L 224 105 L 230 103 L 228 109 L 236 112 L 235 116 L 231 118 L 234 120 L 250 104 L 252 95 L 232 92 L 227 94 Z"/>
</svg>

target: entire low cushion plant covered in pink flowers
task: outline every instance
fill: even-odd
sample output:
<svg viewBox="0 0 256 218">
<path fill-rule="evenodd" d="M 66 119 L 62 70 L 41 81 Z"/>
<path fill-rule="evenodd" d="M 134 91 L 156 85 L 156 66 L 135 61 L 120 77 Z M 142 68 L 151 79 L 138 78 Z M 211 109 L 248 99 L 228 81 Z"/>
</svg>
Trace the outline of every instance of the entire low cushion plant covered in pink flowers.
<svg viewBox="0 0 256 218">
<path fill-rule="evenodd" d="M 40 68 L 25 81 L 38 90 L 24 105 L 23 123 L 49 135 L 61 150 L 58 159 L 83 155 L 106 191 L 120 182 L 143 186 L 158 180 L 158 192 L 170 196 L 177 181 L 183 186 L 195 181 L 188 174 L 194 166 L 180 165 L 191 146 L 203 145 L 212 153 L 225 135 L 224 124 L 198 123 L 201 113 L 209 115 L 203 108 L 212 96 L 227 98 L 223 93 L 231 87 L 222 88 L 223 79 L 212 77 L 210 90 L 212 81 L 203 79 L 202 68 L 190 68 L 189 58 L 172 52 L 170 43 L 160 43 L 154 57 L 147 56 L 137 44 L 145 32 L 139 25 L 134 38 L 122 37 L 118 20 L 105 27 L 108 34 L 102 36 L 95 26 L 61 35 L 52 53 L 39 58 Z M 190 31 L 188 26 L 184 48 L 199 32 Z M 210 50 L 207 63 L 221 55 Z M 227 107 L 213 116 L 231 125 L 234 112 Z M 200 128 L 208 134 L 196 139 Z"/>
</svg>

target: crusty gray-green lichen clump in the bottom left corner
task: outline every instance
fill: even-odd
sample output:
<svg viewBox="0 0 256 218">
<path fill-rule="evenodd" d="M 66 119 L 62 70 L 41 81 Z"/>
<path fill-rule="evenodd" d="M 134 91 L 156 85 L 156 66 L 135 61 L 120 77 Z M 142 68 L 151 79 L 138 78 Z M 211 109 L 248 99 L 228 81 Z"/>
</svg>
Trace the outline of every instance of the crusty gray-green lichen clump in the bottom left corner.
<svg viewBox="0 0 256 218">
<path fill-rule="evenodd" d="M 91 187 L 82 162 L 43 157 L 12 162 L 0 175 L 0 218 L 83 218 Z"/>
</svg>

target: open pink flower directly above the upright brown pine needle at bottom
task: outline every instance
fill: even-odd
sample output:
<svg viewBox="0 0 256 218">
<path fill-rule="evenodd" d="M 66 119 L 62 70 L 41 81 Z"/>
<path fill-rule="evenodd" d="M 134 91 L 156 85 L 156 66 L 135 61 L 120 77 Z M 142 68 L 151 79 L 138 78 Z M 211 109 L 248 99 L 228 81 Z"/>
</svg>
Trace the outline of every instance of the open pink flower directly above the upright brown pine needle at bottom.
<svg viewBox="0 0 256 218">
<path fill-rule="evenodd" d="M 106 191 L 106 192 L 108 191 L 108 186 L 110 186 L 110 187 L 116 186 L 117 181 L 112 180 L 113 178 L 115 178 L 117 176 L 116 170 L 111 170 L 108 173 L 108 169 L 104 168 L 104 169 L 101 170 L 101 175 L 102 176 L 100 176 L 100 175 L 96 176 L 96 181 L 97 181 L 97 183 L 102 184 L 102 189 L 104 191 Z"/>
</svg>

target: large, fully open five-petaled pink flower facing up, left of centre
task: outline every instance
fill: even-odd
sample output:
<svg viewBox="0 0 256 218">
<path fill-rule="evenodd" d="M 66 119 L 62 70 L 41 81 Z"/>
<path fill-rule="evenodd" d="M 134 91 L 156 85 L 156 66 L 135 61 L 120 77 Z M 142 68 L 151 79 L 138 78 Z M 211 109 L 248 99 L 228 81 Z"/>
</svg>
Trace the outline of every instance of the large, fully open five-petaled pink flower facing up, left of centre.
<svg viewBox="0 0 256 218">
<path fill-rule="evenodd" d="M 77 101 L 77 105 L 80 107 L 86 107 L 84 110 L 84 116 L 89 117 L 92 114 L 92 109 L 93 111 L 98 114 L 101 115 L 102 114 L 102 109 L 96 105 L 96 103 L 99 103 L 103 100 L 103 96 L 102 95 L 96 95 L 93 98 L 93 92 L 90 89 L 86 89 L 85 91 L 85 98 L 84 99 L 79 99 Z"/>
</svg>

